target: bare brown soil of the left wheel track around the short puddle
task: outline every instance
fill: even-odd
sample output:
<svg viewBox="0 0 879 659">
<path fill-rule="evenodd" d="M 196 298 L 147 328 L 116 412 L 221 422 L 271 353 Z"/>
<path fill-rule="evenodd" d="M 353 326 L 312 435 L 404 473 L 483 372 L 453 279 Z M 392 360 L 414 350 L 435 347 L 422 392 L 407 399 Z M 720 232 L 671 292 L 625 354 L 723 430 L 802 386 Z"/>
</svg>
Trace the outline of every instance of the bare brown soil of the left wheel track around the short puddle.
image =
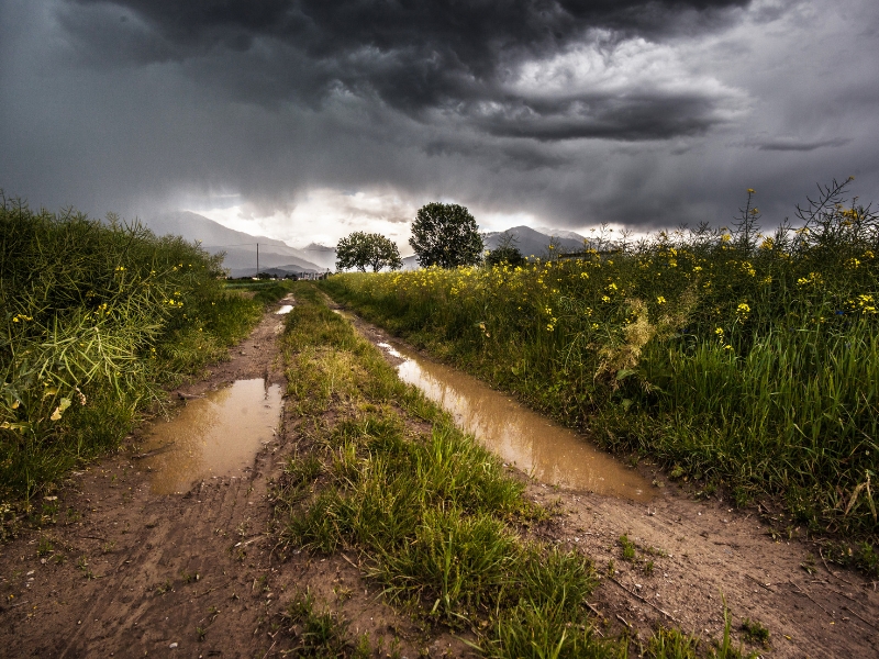
<svg viewBox="0 0 879 659">
<path fill-rule="evenodd" d="M 285 316 L 274 311 L 231 360 L 173 399 L 196 402 L 255 378 L 283 387 Z M 294 656 L 301 629 L 282 614 L 305 589 L 319 610 L 342 612 L 352 636 L 369 634 L 381 656 L 394 643 L 409 657 L 457 654 L 455 639 L 429 637 L 383 604 L 356 556 L 278 555 L 270 488 L 296 448 L 298 422 L 285 411 L 248 466 L 181 495 L 155 493 L 145 460 L 135 459 L 149 446 L 149 423 L 116 455 L 74 472 L 46 502 L 57 506 L 55 522 L 0 546 L 0 656 Z"/>
</svg>

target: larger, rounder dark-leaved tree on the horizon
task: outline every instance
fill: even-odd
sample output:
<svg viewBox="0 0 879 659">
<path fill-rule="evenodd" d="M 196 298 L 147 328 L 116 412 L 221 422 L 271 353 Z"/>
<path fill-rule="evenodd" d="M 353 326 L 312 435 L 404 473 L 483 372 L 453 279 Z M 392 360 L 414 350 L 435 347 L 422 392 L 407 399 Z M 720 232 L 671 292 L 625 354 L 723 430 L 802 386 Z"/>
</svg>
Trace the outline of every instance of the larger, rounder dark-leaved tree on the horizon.
<svg viewBox="0 0 879 659">
<path fill-rule="evenodd" d="M 456 203 L 429 203 L 419 209 L 409 244 L 423 268 L 474 266 L 482 258 L 482 236 L 470 212 Z"/>
</svg>

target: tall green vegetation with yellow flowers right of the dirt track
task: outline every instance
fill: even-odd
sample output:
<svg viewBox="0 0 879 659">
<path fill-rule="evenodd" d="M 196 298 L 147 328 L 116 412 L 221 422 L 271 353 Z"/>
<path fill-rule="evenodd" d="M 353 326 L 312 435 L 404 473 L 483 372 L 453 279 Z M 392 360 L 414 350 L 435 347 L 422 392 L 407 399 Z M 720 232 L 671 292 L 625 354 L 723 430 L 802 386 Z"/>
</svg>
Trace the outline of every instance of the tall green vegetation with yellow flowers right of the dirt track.
<svg viewBox="0 0 879 659">
<path fill-rule="evenodd" d="M 703 494 L 781 501 L 877 574 L 879 217 L 846 201 L 847 183 L 798 209 L 798 227 L 763 231 L 748 190 L 732 227 L 321 286 Z"/>
</svg>

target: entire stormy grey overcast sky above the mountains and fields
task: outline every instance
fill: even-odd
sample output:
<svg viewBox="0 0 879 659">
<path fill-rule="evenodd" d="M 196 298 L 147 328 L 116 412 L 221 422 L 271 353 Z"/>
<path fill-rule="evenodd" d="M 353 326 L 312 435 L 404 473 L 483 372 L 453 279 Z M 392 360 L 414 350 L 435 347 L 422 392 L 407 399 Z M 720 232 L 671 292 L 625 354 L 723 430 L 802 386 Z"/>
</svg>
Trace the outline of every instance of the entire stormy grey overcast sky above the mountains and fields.
<svg viewBox="0 0 879 659">
<path fill-rule="evenodd" d="M 0 188 L 401 246 L 879 201 L 876 0 L 0 0 Z M 411 252 L 411 250 L 410 250 Z"/>
</svg>

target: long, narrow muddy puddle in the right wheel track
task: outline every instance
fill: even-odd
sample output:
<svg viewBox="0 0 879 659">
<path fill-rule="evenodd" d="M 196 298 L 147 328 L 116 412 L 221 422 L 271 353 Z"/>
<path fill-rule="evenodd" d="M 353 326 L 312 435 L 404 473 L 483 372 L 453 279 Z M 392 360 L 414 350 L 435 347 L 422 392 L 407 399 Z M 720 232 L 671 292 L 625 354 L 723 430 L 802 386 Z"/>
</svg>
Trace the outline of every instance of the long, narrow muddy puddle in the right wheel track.
<svg viewBox="0 0 879 659">
<path fill-rule="evenodd" d="M 405 359 L 397 367 L 401 380 L 414 384 L 450 412 L 460 428 L 505 462 L 514 462 L 537 480 L 565 489 L 634 501 L 653 499 L 647 481 L 576 433 L 523 407 L 476 378 L 429 361 L 402 346 L 394 349 L 388 344 L 378 345 Z"/>
</svg>

